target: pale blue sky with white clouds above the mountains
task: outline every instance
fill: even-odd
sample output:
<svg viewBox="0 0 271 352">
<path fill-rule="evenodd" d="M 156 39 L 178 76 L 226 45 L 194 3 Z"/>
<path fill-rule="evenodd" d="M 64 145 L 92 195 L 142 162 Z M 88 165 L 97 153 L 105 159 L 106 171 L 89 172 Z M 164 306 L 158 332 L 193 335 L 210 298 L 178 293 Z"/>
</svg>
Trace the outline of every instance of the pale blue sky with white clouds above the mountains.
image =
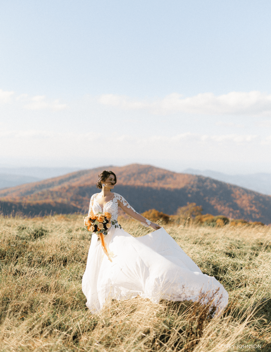
<svg viewBox="0 0 271 352">
<path fill-rule="evenodd" d="M 0 166 L 271 173 L 269 0 L 3 0 Z"/>
</svg>

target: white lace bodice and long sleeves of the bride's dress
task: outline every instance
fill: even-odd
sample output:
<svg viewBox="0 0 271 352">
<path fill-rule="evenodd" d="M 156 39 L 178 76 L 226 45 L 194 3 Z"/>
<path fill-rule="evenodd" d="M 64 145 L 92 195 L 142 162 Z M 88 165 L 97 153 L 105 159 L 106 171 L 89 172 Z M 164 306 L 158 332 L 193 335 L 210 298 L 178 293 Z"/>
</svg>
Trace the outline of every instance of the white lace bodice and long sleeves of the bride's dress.
<svg viewBox="0 0 271 352">
<path fill-rule="evenodd" d="M 125 213 L 130 215 L 132 218 L 141 222 L 142 225 L 148 227 L 150 225 L 150 221 L 144 216 L 138 214 L 133 207 L 118 193 L 114 193 L 113 199 L 109 202 L 105 203 L 102 208 L 99 202 L 97 201 L 98 193 L 93 194 L 90 199 L 90 210 L 88 215 L 90 216 L 92 213 L 97 214 L 99 212 L 109 212 L 112 215 L 112 220 L 117 221 L 118 219 L 118 207 L 121 207 Z"/>
</svg>

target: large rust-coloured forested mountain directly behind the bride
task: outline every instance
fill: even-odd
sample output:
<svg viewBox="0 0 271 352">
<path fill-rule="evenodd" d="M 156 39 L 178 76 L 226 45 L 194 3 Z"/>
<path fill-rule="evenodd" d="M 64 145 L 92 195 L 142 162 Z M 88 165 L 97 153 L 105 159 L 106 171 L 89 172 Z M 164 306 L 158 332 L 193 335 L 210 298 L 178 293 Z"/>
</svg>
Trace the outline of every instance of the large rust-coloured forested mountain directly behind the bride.
<svg viewBox="0 0 271 352">
<path fill-rule="evenodd" d="M 203 213 L 234 219 L 271 223 L 271 196 L 200 175 L 181 174 L 151 165 L 103 166 L 81 170 L 35 183 L 0 190 L 4 213 L 86 213 L 98 174 L 117 175 L 114 191 L 123 195 L 137 212 L 155 208 L 174 214 L 178 207 L 195 202 Z M 36 207 L 36 208 L 35 208 Z"/>
</svg>

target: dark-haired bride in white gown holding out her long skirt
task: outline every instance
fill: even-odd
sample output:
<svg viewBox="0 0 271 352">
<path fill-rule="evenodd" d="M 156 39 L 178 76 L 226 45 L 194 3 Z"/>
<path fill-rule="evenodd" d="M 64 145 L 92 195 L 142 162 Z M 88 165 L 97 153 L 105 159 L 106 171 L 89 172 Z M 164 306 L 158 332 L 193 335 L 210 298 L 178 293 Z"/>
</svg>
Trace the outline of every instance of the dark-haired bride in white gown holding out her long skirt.
<svg viewBox="0 0 271 352">
<path fill-rule="evenodd" d="M 219 314 L 228 304 L 228 293 L 214 278 L 203 274 L 174 239 L 162 228 L 138 214 L 119 194 L 111 193 L 117 182 L 112 171 L 99 174 L 88 216 L 107 212 L 116 226 L 98 241 L 92 234 L 82 291 L 86 306 L 99 311 L 109 299 L 129 299 L 140 295 L 158 303 L 171 301 L 212 302 Z M 117 224 L 118 208 L 154 232 L 135 238 Z M 105 243 L 104 243 L 105 242 Z"/>
</svg>

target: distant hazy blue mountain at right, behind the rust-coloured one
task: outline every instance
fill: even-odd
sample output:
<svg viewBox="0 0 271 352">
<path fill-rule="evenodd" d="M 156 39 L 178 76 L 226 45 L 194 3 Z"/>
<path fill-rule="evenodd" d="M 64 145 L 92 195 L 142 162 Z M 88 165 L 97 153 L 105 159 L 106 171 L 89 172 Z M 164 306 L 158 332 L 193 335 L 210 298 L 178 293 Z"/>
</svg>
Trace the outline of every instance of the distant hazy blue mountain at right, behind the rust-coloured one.
<svg viewBox="0 0 271 352">
<path fill-rule="evenodd" d="M 218 181 L 236 184 L 236 186 L 245 187 L 256 192 L 271 195 L 271 174 L 264 172 L 248 175 L 228 175 L 213 170 L 202 171 L 197 169 L 186 169 L 183 172 L 186 174 L 211 177 Z"/>
</svg>

